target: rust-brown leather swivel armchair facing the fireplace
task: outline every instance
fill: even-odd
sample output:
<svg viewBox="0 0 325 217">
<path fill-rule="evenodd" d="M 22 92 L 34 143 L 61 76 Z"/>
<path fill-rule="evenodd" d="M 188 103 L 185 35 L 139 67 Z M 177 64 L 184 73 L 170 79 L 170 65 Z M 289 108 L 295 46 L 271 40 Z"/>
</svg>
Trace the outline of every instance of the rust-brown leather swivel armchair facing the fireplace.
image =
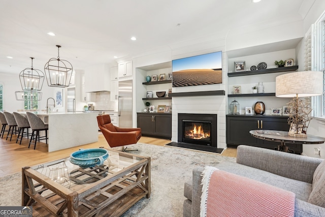
<svg viewBox="0 0 325 217">
<path fill-rule="evenodd" d="M 119 128 L 111 123 L 109 114 L 97 116 L 98 126 L 110 147 L 136 144 L 141 138 L 140 128 Z M 122 147 L 122 150 L 125 150 Z"/>
</svg>

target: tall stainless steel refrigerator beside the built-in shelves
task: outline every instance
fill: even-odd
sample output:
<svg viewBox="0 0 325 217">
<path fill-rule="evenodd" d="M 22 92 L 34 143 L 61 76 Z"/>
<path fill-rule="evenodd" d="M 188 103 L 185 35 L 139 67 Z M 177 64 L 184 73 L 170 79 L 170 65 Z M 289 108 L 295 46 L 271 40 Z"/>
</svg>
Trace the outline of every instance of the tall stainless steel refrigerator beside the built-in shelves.
<svg viewBox="0 0 325 217">
<path fill-rule="evenodd" d="M 132 80 L 118 82 L 118 127 L 132 128 Z"/>
</svg>

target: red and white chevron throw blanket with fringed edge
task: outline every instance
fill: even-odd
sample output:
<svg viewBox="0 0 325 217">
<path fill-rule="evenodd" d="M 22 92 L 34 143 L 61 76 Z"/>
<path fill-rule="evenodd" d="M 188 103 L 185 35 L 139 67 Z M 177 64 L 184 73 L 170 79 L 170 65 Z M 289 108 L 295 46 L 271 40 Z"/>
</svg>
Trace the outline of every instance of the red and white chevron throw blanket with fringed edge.
<svg viewBox="0 0 325 217">
<path fill-rule="evenodd" d="M 202 174 L 201 217 L 294 216 L 295 194 L 206 166 Z"/>
</svg>

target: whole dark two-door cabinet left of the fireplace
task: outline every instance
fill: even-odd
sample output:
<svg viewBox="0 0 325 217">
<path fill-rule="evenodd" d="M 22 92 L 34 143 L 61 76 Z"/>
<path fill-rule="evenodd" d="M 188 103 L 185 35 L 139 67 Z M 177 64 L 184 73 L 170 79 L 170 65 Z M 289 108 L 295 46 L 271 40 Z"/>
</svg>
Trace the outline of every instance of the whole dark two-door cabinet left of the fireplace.
<svg viewBox="0 0 325 217">
<path fill-rule="evenodd" d="M 172 138 L 171 113 L 142 113 L 138 112 L 138 128 L 144 136 Z"/>
</svg>

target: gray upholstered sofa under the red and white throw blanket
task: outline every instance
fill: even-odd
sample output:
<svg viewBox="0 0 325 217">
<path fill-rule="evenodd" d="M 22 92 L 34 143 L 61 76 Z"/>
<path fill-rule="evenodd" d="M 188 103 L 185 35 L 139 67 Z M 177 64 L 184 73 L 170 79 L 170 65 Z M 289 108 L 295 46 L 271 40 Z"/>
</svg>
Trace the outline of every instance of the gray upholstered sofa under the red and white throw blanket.
<svg viewBox="0 0 325 217">
<path fill-rule="evenodd" d="M 235 162 L 216 168 L 271 184 L 296 194 L 295 216 L 325 216 L 325 161 L 265 148 L 240 145 Z M 184 185 L 183 216 L 200 216 L 203 167 Z"/>
</svg>

